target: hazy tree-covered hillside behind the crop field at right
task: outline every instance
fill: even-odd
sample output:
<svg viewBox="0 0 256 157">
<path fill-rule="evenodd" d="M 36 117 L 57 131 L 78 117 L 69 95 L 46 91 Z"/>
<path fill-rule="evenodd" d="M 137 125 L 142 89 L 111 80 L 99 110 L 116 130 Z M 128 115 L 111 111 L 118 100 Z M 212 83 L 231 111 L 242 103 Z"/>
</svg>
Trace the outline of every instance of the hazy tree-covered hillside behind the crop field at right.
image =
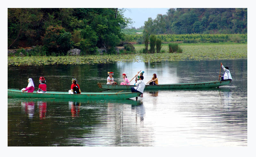
<svg viewBox="0 0 256 157">
<path fill-rule="evenodd" d="M 144 22 L 144 34 L 247 34 L 247 8 L 171 8 Z"/>
</svg>

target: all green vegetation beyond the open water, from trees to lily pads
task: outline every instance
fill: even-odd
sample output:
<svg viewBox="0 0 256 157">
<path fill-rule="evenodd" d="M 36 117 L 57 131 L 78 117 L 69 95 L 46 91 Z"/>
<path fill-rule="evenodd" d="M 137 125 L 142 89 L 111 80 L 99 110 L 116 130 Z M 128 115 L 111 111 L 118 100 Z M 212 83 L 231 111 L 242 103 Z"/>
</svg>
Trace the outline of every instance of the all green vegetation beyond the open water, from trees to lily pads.
<svg viewBox="0 0 256 157">
<path fill-rule="evenodd" d="M 126 10 L 8 8 L 8 65 L 247 59 L 247 8 L 170 8 L 138 29 Z"/>
</svg>

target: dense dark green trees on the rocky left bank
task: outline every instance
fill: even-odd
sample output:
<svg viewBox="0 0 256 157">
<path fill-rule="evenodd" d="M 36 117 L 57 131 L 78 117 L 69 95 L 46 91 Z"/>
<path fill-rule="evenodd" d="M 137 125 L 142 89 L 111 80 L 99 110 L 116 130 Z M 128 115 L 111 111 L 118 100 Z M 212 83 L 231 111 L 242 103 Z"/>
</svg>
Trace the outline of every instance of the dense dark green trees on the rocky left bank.
<svg viewBox="0 0 256 157">
<path fill-rule="evenodd" d="M 131 23 L 118 8 L 8 8 L 8 49 L 42 45 L 47 53 L 113 49 Z"/>
</svg>

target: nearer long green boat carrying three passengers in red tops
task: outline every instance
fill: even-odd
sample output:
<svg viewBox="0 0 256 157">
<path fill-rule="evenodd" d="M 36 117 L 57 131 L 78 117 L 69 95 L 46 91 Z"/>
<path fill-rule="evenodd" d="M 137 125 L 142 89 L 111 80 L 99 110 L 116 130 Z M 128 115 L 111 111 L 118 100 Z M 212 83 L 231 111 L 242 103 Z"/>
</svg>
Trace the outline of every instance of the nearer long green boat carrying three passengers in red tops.
<svg viewBox="0 0 256 157">
<path fill-rule="evenodd" d="M 68 94 L 68 92 L 47 91 L 47 93 L 27 93 L 21 90 L 8 89 L 8 96 L 20 98 L 78 98 L 78 99 L 128 99 L 139 97 L 139 92 L 120 92 L 120 93 L 81 93 Z"/>
</svg>

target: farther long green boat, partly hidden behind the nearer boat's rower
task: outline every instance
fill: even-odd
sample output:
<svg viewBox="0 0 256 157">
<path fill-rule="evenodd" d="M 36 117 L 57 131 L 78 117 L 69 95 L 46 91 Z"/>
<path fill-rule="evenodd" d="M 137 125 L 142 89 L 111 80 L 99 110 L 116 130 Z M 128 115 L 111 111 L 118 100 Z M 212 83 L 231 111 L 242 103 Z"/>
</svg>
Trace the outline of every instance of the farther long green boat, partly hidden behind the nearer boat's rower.
<svg viewBox="0 0 256 157">
<path fill-rule="evenodd" d="M 178 84 L 158 84 L 146 85 L 144 90 L 161 90 L 161 89 L 190 89 L 190 88 L 216 88 L 227 85 L 232 80 L 213 81 L 213 82 L 198 82 L 198 83 L 178 83 Z M 100 88 L 108 90 L 130 90 L 134 85 L 112 85 L 106 83 L 97 83 Z"/>
</svg>

